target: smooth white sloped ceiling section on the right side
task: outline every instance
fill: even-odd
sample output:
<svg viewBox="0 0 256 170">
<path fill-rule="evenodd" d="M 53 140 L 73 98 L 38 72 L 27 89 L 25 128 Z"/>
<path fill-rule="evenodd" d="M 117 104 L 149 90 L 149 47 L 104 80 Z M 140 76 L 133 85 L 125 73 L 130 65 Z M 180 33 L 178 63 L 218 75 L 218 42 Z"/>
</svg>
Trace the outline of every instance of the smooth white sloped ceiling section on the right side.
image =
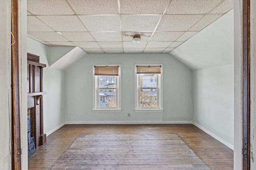
<svg viewBox="0 0 256 170">
<path fill-rule="evenodd" d="M 234 63 L 234 10 L 170 52 L 192 70 Z"/>
</svg>

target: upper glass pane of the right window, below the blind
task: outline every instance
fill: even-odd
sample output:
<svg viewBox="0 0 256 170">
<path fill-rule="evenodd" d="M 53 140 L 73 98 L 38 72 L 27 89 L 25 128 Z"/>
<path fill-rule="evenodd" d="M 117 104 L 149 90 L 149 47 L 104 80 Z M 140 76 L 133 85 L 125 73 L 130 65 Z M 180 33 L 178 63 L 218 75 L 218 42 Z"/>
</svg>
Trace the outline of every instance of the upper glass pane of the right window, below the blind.
<svg viewBox="0 0 256 170">
<path fill-rule="evenodd" d="M 157 87 L 157 74 L 140 74 L 140 87 Z"/>
</svg>

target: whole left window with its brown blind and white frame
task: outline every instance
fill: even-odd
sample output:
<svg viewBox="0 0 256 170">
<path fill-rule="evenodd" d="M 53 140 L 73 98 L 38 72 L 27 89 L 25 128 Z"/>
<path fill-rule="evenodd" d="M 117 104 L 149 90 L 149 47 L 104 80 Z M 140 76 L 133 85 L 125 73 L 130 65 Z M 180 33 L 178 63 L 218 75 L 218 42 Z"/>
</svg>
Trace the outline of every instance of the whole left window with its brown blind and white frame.
<svg viewBox="0 0 256 170">
<path fill-rule="evenodd" d="M 93 109 L 120 110 L 120 83 L 120 66 L 94 66 Z"/>
</svg>

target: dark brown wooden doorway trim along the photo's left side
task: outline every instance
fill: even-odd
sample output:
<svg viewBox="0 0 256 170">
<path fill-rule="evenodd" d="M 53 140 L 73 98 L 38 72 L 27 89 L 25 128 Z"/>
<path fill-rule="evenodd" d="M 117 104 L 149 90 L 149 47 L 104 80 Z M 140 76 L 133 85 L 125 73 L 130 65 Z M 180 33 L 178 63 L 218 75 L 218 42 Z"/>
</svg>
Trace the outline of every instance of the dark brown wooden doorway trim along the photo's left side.
<svg viewBox="0 0 256 170">
<path fill-rule="evenodd" d="M 20 77 L 19 77 L 19 3 L 11 1 L 12 31 L 12 170 L 21 170 L 20 148 Z"/>
</svg>

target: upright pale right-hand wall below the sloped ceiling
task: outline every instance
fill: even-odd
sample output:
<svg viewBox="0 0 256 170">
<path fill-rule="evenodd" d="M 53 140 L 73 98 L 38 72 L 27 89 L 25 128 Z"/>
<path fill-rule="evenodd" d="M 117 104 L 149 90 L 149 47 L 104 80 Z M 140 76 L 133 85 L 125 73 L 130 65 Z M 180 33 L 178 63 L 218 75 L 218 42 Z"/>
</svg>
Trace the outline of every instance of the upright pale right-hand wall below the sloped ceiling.
<svg viewBox="0 0 256 170">
<path fill-rule="evenodd" d="M 193 71 L 193 123 L 233 149 L 234 64 Z"/>
</svg>

